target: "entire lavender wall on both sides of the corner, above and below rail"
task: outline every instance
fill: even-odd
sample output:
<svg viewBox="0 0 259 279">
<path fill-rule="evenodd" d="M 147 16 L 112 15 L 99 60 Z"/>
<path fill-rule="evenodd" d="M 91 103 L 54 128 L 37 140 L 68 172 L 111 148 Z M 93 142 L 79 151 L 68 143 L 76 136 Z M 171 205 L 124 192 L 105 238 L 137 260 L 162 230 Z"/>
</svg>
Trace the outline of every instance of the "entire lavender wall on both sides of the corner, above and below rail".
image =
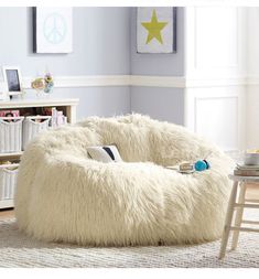
<svg viewBox="0 0 259 279">
<path fill-rule="evenodd" d="M 137 8 L 74 8 L 74 52 L 32 53 L 32 9 L 0 8 L 0 66 L 19 65 L 23 76 L 184 75 L 184 19 L 177 9 L 177 52 L 138 54 Z M 31 94 L 29 94 L 31 95 Z M 32 95 L 31 95 L 32 96 Z M 53 97 L 79 98 L 77 117 L 132 111 L 183 124 L 182 89 L 159 87 L 55 88 Z"/>
</svg>

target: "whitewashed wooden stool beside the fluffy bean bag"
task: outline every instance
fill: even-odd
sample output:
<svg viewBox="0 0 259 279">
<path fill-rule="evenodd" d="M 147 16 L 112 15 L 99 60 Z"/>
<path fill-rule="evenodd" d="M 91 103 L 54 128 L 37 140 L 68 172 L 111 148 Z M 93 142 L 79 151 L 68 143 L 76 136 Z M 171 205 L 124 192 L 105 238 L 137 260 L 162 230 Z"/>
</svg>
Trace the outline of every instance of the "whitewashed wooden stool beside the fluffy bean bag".
<svg viewBox="0 0 259 279">
<path fill-rule="evenodd" d="M 242 227 L 242 224 L 259 225 L 257 221 L 242 219 L 244 208 L 259 208 L 259 200 L 246 198 L 246 190 L 249 183 L 258 186 L 259 190 L 259 176 L 240 176 L 229 175 L 229 179 L 234 181 L 231 194 L 229 197 L 227 215 L 225 226 L 223 230 L 222 246 L 219 251 L 219 259 L 225 257 L 227 243 L 230 230 L 234 230 L 231 249 L 236 249 L 239 232 L 253 232 L 259 233 L 259 228 Z M 236 210 L 235 222 L 233 225 L 233 216 Z"/>
</svg>

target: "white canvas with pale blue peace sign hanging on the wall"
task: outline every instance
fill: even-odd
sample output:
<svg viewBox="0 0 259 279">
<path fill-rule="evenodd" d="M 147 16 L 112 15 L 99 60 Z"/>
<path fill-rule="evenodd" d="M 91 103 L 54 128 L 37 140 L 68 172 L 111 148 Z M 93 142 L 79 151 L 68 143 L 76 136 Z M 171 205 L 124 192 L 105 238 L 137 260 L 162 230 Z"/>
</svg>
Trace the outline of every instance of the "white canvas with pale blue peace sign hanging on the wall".
<svg viewBox="0 0 259 279">
<path fill-rule="evenodd" d="M 33 8 L 33 52 L 73 51 L 73 8 Z"/>
</svg>

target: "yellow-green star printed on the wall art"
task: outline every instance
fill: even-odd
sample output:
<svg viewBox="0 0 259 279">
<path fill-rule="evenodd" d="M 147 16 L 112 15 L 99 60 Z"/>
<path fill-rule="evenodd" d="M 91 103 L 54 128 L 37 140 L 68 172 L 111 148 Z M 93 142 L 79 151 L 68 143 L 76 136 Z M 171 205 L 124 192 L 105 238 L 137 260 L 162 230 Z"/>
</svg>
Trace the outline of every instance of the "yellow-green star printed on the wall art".
<svg viewBox="0 0 259 279">
<path fill-rule="evenodd" d="M 141 22 L 141 25 L 149 31 L 145 44 L 148 44 L 152 39 L 157 39 L 161 44 L 163 44 L 163 40 L 161 36 L 161 30 L 164 29 L 164 26 L 169 22 L 166 21 L 158 21 L 157 12 L 153 10 L 151 22 Z"/>
</svg>

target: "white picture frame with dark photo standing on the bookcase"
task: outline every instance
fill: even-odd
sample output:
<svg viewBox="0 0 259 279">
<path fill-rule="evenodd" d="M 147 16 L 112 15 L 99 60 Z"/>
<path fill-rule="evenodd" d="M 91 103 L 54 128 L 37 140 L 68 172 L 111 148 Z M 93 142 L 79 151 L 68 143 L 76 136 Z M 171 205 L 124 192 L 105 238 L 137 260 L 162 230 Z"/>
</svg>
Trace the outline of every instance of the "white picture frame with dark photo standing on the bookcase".
<svg viewBox="0 0 259 279">
<path fill-rule="evenodd" d="M 18 66 L 2 66 L 3 81 L 9 96 L 22 94 L 22 77 Z"/>
</svg>

